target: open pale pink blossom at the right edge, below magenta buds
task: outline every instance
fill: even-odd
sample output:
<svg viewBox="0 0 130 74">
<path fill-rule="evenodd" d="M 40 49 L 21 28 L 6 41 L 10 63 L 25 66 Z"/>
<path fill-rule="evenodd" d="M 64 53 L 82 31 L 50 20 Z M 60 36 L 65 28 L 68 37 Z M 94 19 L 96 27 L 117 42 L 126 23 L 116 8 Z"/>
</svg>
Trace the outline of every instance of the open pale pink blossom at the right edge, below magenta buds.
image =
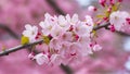
<svg viewBox="0 0 130 74">
<path fill-rule="evenodd" d="M 126 18 L 130 17 L 130 14 L 126 11 L 113 12 L 109 16 L 109 23 L 115 26 L 115 29 L 120 30 L 122 25 L 126 25 Z"/>
</svg>

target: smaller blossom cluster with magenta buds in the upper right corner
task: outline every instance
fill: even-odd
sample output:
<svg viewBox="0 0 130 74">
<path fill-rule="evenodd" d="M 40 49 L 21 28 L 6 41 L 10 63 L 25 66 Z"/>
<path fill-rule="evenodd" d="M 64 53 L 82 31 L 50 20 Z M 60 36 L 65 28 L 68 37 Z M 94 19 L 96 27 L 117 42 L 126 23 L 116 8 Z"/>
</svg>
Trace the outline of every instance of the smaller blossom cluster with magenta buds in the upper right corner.
<svg viewBox="0 0 130 74">
<path fill-rule="evenodd" d="M 130 25 L 130 14 L 119 10 L 122 0 L 99 0 L 99 2 L 105 10 L 104 14 L 98 15 L 101 18 L 98 24 L 109 22 L 112 32 L 123 30 L 123 26 Z"/>
</svg>

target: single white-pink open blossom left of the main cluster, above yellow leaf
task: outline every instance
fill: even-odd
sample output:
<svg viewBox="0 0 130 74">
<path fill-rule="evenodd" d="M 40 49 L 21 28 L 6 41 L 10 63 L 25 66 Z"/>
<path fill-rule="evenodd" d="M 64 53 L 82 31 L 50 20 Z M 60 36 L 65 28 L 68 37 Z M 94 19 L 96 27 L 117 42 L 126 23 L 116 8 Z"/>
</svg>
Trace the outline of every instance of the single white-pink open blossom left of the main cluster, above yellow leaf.
<svg viewBox="0 0 130 74">
<path fill-rule="evenodd" d="M 26 28 L 26 30 L 23 32 L 23 35 L 25 37 L 28 37 L 30 42 L 35 41 L 35 38 L 38 34 L 38 27 L 27 24 L 27 25 L 25 25 L 25 28 Z"/>
</svg>

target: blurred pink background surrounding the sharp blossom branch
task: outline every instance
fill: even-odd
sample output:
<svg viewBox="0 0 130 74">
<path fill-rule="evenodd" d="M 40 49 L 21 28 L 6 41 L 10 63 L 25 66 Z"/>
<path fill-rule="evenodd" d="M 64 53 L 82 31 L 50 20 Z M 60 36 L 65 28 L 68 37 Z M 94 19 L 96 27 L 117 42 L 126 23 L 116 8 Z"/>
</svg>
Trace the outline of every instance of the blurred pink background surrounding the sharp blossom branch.
<svg viewBox="0 0 130 74">
<path fill-rule="evenodd" d="M 130 0 L 123 0 L 120 10 L 129 12 L 129 3 Z M 87 14 L 94 16 L 98 13 L 90 13 L 89 5 L 94 5 L 99 12 L 103 10 L 98 0 L 0 0 L 0 51 L 20 45 L 25 24 L 38 26 L 44 13 L 77 13 L 83 20 Z M 98 30 L 98 34 L 96 41 L 103 50 L 88 55 L 78 64 L 69 64 L 74 74 L 130 74 L 130 37 L 104 28 Z M 39 66 L 28 59 L 28 53 L 27 49 L 23 49 L 0 57 L 0 74 L 65 74 L 60 66 Z"/>
</svg>

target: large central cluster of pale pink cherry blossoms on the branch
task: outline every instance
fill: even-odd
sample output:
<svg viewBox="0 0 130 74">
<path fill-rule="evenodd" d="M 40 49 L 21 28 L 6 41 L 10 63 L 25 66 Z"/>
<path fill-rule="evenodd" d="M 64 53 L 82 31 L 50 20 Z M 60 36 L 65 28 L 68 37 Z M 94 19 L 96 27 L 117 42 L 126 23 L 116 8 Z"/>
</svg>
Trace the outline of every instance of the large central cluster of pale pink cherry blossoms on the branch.
<svg viewBox="0 0 130 74">
<path fill-rule="evenodd" d="M 44 21 L 39 25 L 41 32 L 37 26 L 25 25 L 26 29 L 22 37 L 23 45 L 43 40 L 41 44 L 43 50 L 38 54 L 34 52 L 29 54 L 29 58 L 36 60 L 39 65 L 78 62 L 93 51 L 102 49 L 100 45 L 92 42 L 94 23 L 90 15 L 86 15 L 86 20 L 80 21 L 77 14 L 70 17 L 69 14 L 51 16 L 46 13 Z"/>
</svg>

